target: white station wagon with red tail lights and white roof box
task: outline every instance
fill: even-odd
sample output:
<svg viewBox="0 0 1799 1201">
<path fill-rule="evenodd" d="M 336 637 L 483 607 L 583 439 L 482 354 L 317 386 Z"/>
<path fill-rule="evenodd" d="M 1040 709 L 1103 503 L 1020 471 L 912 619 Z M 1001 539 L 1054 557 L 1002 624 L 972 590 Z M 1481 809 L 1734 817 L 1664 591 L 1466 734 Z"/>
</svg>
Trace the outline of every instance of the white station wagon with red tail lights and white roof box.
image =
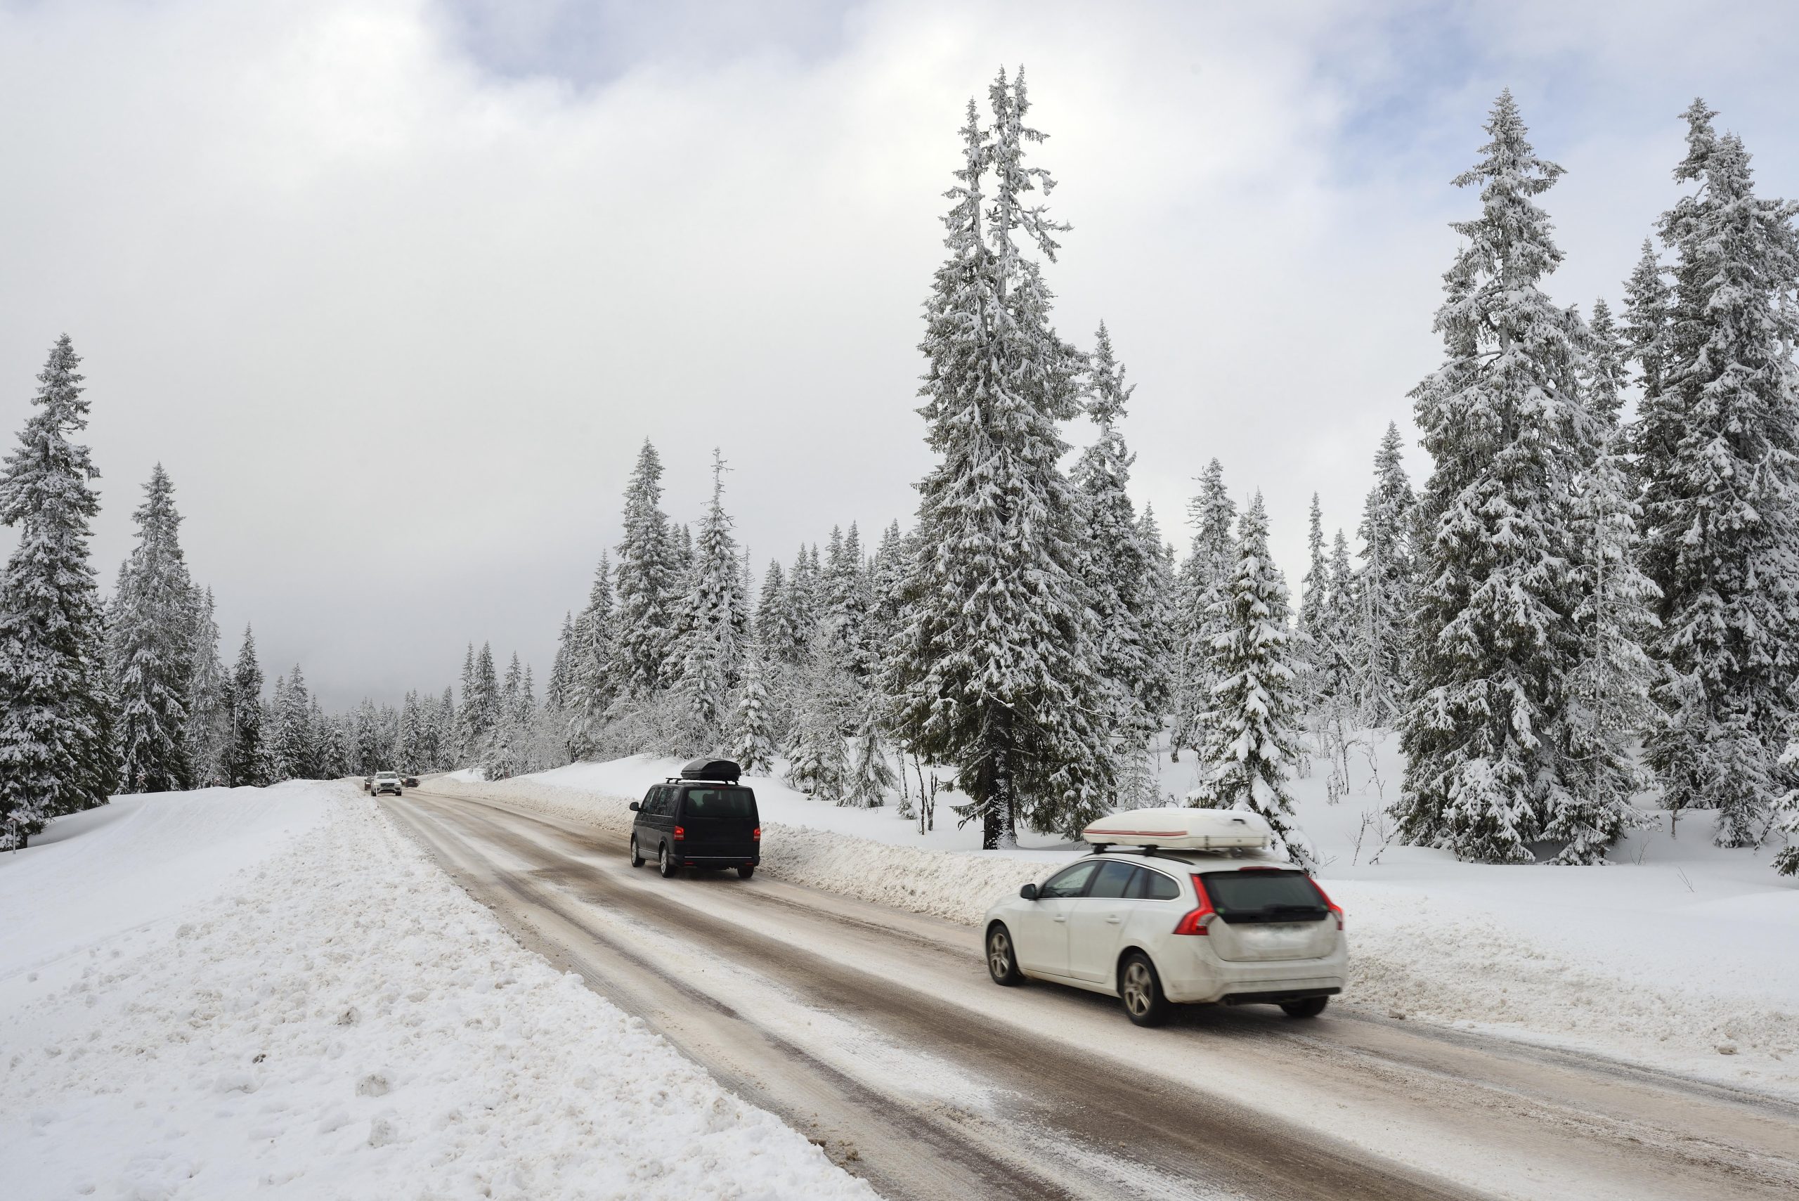
<svg viewBox="0 0 1799 1201">
<path fill-rule="evenodd" d="M 1342 992 L 1344 912 L 1232 809 L 1128 809 L 1094 854 L 988 910 L 988 971 L 1105 992 L 1141 1027 L 1173 1003 L 1274 1003 L 1315 1018 Z"/>
</svg>

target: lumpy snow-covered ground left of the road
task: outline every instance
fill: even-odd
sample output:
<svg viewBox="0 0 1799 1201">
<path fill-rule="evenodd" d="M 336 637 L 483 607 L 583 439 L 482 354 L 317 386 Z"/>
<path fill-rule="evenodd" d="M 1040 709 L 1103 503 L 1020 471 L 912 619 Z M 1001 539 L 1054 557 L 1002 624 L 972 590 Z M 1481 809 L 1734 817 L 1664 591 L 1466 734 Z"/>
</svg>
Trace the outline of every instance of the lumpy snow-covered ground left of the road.
<svg viewBox="0 0 1799 1201">
<path fill-rule="evenodd" d="M 344 784 L 0 856 L 9 1201 L 871 1197 L 524 951 Z"/>
</svg>

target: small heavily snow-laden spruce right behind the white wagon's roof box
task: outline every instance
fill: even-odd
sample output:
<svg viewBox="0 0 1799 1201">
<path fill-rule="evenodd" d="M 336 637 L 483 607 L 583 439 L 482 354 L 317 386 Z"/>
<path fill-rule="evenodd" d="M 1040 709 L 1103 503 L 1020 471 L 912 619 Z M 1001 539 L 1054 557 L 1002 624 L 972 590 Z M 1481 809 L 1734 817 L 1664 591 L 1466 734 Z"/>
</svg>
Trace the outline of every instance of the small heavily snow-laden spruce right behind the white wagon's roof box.
<svg viewBox="0 0 1799 1201">
<path fill-rule="evenodd" d="M 1286 782 L 1299 759 L 1301 698 L 1293 671 L 1286 581 L 1268 556 L 1268 511 L 1261 493 L 1238 521 L 1236 565 L 1218 588 L 1214 665 L 1218 683 L 1198 748 L 1193 804 L 1249 809 L 1268 820 L 1288 858 L 1311 867 L 1290 818 Z"/>
</svg>

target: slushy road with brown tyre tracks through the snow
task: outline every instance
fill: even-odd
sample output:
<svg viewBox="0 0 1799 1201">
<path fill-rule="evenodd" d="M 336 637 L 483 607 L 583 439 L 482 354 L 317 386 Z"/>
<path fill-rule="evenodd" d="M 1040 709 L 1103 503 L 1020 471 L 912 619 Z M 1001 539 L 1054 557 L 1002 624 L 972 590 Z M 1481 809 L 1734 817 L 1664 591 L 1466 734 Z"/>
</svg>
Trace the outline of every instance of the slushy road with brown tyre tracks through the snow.
<svg viewBox="0 0 1799 1201">
<path fill-rule="evenodd" d="M 889 1197 L 1790 1197 L 1799 1108 L 1356 1014 L 993 987 L 973 930 L 498 796 L 381 802 L 552 964 Z"/>
</svg>

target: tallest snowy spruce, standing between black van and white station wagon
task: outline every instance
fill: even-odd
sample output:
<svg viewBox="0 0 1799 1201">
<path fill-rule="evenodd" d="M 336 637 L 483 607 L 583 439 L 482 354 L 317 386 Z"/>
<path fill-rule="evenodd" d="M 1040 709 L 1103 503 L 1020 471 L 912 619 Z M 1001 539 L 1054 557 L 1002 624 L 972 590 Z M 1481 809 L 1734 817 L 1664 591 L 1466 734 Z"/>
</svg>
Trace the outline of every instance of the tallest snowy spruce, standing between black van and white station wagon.
<svg viewBox="0 0 1799 1201">
<path fill-rule="evenodd" d="M 925 306 L 919 412 L 939 460 L 919 484 L 921 554 L 889 692 L 903 741 L 955 766 L 966 816 L 998 847 L 1018 822 L 1079 831 L 1110 807 L 1115 770 L 1079 502 L 1056 466 L 1058 423 L 1079 412 L 1079 354 L 1051 327 L 1051 291 L 1015 239 L 1054 261 L 1063 227 L 1031 203 L 1054 182 L 1024 164 L 1043 135 L 1025 126 L 1022 72 L 1000 72 L 989 101 L 989 133 L 968 108 L 950 255 Z"/>
</svg>

